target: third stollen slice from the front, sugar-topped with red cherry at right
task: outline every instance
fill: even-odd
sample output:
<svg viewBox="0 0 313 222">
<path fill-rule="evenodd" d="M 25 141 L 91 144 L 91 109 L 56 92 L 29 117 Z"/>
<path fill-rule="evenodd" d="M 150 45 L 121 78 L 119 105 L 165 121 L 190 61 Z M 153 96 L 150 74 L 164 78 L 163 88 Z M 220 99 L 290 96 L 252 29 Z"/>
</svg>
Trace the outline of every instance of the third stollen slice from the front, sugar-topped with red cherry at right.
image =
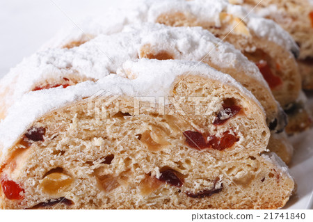
<svg viewBox="0 0 313 222">
<path fill-rule="evenodd" d="M 222 0 L 142 0 L 132 1 L 131 6 L 125 8 L 127 8 L 125 13 L 120 11 L 115 13 L 114 18 L 118 22 L 108 16 L 102 20 L 86 22 L 82 29 L 88 33 L 88 38 L 85 33 L 67 31 L 63 35 L 58 35 L 51 46 L 74 47 L 99 33 L 118 31 L 117 27 L 125 23 L 157 22 L 168 26 L 202 26 L 216 37 L 232 43 L 250 61 L 257 64 L 275 99 L 284 109 L 298 107 L 294 104 L 301 90 L 301 77 L 294 56 L 298 56 L 299 49 L 289 33 L 272 20 L 252 15 L 243 7 Z M 122 18 L 118 19 L 117 15 Z M 308 127 L 307 122 L 310 122 L 310 118 L 306 118 L 308 117 L 306 109 L 300 107 L 296 111 L 298 115 L 289 116 L 297 118 L 291 120 L 290 124 L 305 120 L 301 124 Z M 288 133 L 293 134 L 298 131 L 292 130 L 299 128 L 290 126 L 288 129 L 290 130 Z"/>
</svg>

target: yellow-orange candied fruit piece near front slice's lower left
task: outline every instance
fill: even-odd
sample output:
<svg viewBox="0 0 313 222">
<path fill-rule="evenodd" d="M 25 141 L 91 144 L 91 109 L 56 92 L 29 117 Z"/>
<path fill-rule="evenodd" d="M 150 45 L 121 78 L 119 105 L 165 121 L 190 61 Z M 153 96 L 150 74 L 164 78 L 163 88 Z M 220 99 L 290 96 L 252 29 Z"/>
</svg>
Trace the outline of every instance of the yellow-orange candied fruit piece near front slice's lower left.
<svg viewBox="0 0 313 222">
<path fill-rule="evenodd" d="M 53 195 L 65 191 L 73 181 L 72 177 L 64 173 L 51 173 L 42 179 L 40 187 L 43 192 Z"/>
</svg>

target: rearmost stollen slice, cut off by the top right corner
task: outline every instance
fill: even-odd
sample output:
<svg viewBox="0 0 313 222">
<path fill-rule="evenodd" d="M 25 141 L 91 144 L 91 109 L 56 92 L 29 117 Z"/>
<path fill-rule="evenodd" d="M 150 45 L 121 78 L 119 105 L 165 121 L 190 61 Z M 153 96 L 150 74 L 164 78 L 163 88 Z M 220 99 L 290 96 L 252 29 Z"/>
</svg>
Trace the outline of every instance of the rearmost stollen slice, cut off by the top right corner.
<svg viewBox="0 0 313 222">
<path fill-rule="evenodd" d="M 298 65 L 303 77 L 303 88 L 313 89 L 313 5 L 309 0 L 230 0 L 247 8 L 255 8 L 255 13 L 273 19 L 288 31 L 300 47 Z"/>
</svg>

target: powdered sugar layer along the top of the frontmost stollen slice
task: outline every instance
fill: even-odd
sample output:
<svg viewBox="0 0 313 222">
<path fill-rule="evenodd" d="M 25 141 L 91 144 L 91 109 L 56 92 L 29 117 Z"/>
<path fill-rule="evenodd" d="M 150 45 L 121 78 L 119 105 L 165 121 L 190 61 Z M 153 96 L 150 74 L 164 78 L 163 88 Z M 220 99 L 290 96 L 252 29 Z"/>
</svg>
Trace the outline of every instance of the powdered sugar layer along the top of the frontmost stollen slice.
<svg viewBox="0 0 313 222">
<path fill-rule="evenodd" d="M 77 102 L 84 97 L 91 97 L 102 90 L 113 95 L 130 97 L 167 96 L 172 83 L 182 74 L 199 74 L 220 81 L 224 85 L 236 88 L 244 97 L 248 96 L 258 104 L 255 97 L 236 80 L 204 63 L 143 58 L 138 61 L 125 61 L 118 72 L 119 75 L 108 74 L 96 82 L 85 81 L 67 88 L 50 88 L 24 94 L 10 107 L 8 116 L 0 122 L 2 151 L 6 153 L 32 122 L 49 111 Z M 121 75 L 127 75 L 125 72 L 136 73 L 136 78 L 122 77 Z"/>
</svg>

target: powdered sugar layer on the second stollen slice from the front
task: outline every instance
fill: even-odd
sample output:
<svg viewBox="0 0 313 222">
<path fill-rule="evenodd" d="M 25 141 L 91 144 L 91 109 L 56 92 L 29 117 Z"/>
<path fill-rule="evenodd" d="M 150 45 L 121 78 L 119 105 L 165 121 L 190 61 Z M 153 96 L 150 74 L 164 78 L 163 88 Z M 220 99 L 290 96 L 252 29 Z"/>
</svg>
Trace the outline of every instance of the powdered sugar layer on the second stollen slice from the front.
<svg viewBox="0 0 313 222">
<path fill-rule="evenodd" d="M 162 24 L 125 26 L 120 33 L 97 35 L 80 47 L 38 51 L 11 70 L 1 84 L 15 83 L 13 93 L 6 97 L 10 104 L 44 79 L 57 79 L 69 74 L 101 79 L 116 73 L 122 63 L 138 58 L 145 45 L 150 45 L 152 51 L 168 51 L 176 59 L 202 61 L 209 58 L 220 68 L 232 68 L 254 77 L 270 90 L 257 66 L 232 45 L 221 42 L 200 27 L 168 27 Z"/>
</svg>

